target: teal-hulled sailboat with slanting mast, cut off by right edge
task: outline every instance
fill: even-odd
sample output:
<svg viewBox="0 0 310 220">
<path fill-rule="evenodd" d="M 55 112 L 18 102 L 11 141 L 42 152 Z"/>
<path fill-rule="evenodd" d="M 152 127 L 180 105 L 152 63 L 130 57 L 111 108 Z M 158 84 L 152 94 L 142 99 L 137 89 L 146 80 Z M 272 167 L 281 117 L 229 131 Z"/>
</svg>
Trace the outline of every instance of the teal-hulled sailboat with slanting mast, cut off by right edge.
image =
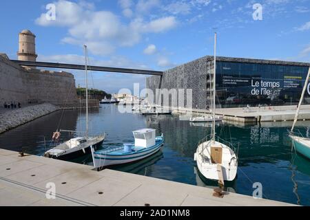
<svg viewBox="0 0 310 220">
<path fill-rule="evenodd" d="M 304 92 L 307 89 L 308 82 L 309 82 L 309 77 L 310 77 L 310 67 L 309 67 L 309 71 L 308 71 L 308 74 L 307 74 L 306 81 L 304 82 L 304 88 L 302 89 L 302 94 L 300 96 L 300 100 L 299 100 L 299 103 L 298 103 L 298 108 L 296 110 L 295 118 L 294 118 L 294 121 L 293 121 L 293 126 L 291 126 L 291 131 L 289 133 L 289 137 L 291 137 L 291 140 L 293 142 L 293 148 L 295 148 L 295 150 L 298 153 L 300 153 L 301 155 L 304 155 L 304 157 L 307 157 L 308 159 L 310 159 L 310 138 L 302 137 L 301 134 L 296 134 L 293 131 L 294 131 L 296 122 L 298 120 L 300 106 L 302 104 L 302 100 L 304 99 Z"/>
</svg>

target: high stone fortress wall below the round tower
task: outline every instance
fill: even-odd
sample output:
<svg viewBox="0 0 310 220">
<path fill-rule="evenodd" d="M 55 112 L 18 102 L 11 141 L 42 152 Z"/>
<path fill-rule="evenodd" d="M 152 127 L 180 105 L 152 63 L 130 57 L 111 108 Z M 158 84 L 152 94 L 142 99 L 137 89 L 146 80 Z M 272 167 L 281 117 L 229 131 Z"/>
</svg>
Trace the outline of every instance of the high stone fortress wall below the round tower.
<svg viewBox="0 0 310 220">
<path fill-rule="evenodd" d="M 3 102 L 41 102 L 41 100 L 77 100 L 74 76 L 24 68 L 0 56 L 0 104 Z"/>
</svg>

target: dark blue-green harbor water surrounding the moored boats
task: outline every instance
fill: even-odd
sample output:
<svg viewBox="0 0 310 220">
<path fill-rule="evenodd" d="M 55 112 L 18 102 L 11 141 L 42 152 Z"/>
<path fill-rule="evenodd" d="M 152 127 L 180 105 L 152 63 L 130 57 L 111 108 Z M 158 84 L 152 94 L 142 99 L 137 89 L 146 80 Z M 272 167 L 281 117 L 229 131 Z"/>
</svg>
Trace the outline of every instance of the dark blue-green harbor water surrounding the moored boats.
<svg viewBox="0 0 310 220">
<path fill-rule="evenodd" d="M 216 181 L 201 177 L 194 162 L 197 144 L 210 133 L 211 124 L 191 124 L 179 120 L 178 115 L 120 113 L 114 104 L 90 110 L 89 117 L 90 135 L 107 133 L 102 148 L 134 142 L 132 131 L 146 127 L 165 135 L 165 145 L 155 155 L 112 169 L 203 187 L 217 186 Z M 267 199 L 310 206 L 310 160 L 291 152 L 287 131 L 290 126 L 291 122 L 216 124 L 217 135 L 238 148 L 238 175 L 235 181 L 225 183 L 226 190 L 253 195 L 256 183 L 260 183 Z M 308 135 L 306 126 L 304 122 L 298 127 L 304 135 Z M 52 146 L 50 139 L 56 129 L 85 131 L 85 112 L 57 111 L 19 126 L 0 135 L 0 148 L 43 155 Z M 62 133 L 61 139 L 73 136 Z M 92 157 L 73 162 L 92 165 Z"/>
</svg>

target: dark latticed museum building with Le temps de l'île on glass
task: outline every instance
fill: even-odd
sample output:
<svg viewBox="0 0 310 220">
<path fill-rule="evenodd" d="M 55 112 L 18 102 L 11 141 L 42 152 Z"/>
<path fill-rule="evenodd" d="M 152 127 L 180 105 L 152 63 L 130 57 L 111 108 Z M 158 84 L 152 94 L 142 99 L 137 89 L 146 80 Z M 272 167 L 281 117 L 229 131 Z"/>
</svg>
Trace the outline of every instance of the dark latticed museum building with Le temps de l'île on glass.
<svg viewBox="0 0 310 220">
<path fill-rule="evenodd" d="M 310 63 L 267 61 L 249 58 L 217 57 L 216 104 L 219 107 L 246 107 L 298 104 Z M 161 76 L 147 78 L 147 88 L 192 89 L 192 107 L 210 106 L 210 87 L 214 74 L 214 57 L 169 69 Z M 310 88 L 304 102 L 310 104 Z M 172 92 L 170 94 L 170 99 Z M 178 97 L 179 98 L 179 97 Z M 163 104 L 157 99 L 157 104 Z M 186 105 L 185 96 L 185 107 Z M 174 104 L 173 104 L 174 103 Z M 176 107 L 170 100 L 169 105 Z"/>
</svg>

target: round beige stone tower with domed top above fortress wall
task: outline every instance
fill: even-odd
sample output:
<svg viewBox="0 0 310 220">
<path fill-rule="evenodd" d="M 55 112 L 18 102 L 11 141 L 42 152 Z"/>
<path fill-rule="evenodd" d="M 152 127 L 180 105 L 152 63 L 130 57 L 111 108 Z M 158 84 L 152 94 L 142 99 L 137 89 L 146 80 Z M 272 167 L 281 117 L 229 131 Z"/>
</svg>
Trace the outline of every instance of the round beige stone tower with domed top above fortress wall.
<svg viewBox="0 0 310 220">
<path fill-rule="evenodd" d="M 30 30 L 23 30 L 19 33 L 19 61 L 37 61 L 36 36 Z"/>
</svg>

